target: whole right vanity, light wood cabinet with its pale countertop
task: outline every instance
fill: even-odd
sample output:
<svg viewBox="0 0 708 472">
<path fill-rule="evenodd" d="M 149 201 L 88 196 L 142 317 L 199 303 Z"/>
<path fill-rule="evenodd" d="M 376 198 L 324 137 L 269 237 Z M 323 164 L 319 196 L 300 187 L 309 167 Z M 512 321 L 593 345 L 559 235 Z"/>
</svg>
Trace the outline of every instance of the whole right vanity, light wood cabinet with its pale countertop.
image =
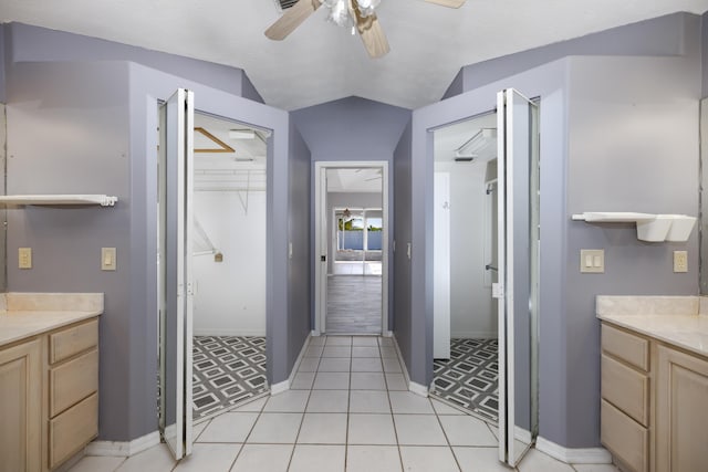
<svg viewBox="0 0 708 472">
<path fill-rule="evenodd" d="M 601 441 L 624 471 L 708 471 L 708 303 L 597 296 Z"/>
</svg>

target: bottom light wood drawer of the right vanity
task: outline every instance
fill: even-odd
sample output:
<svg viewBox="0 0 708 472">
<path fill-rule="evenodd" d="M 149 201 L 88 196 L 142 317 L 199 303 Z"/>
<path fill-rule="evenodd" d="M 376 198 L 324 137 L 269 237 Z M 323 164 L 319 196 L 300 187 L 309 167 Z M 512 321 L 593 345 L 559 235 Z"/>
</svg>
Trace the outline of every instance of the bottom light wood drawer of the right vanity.
<svg viewBox="0 0 708 472">
<path fill-rule="evenodd" d="M 601 400 L 600 440 L 633 472 L 648 470 L 649 433 L 628 416 Z"/>
</svg>

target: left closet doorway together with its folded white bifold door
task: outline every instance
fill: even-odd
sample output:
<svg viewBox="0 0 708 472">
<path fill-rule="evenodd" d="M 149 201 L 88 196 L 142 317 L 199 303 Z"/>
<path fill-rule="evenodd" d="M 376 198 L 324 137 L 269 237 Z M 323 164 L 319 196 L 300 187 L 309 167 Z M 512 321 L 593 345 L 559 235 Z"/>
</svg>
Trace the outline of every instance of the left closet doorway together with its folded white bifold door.
<svg viewBox="0 0 708 472">
<path fill-rule="evenodd" d="M 270 133 L 196 114 L 186 90 L 157 123 L 158 415 L 180 459 L 195 421 L 268 394 Z"/>
</svg>

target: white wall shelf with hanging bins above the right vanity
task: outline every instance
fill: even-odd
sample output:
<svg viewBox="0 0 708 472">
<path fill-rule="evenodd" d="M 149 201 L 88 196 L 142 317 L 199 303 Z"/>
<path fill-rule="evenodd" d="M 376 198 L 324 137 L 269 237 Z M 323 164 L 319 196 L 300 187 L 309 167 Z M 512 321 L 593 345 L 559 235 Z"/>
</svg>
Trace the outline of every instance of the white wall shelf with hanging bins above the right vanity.
<svg viewBox="0 0 708 472">
<path fill-rule="evenodd" d="M 696 217 L 687 214 L 653 214 L 624 211 L 586 211 L 573 214 L 574 221 L 586 223 L 636 223 L 639 241 L 684 242 L 688 240 Z"/>
</svg>

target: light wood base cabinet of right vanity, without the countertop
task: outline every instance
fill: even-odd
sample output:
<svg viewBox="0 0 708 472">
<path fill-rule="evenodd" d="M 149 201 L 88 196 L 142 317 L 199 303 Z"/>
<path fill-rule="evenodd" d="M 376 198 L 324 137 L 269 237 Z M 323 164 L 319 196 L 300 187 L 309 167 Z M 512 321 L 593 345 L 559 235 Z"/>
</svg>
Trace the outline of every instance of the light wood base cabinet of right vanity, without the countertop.
<svg viewBox="0 0 708 472">
<path fill-rule="evenodd" d="M 708 358 L 602 324 L 601 441 L 633 472 L 708 471 Z"/>
</svg>

